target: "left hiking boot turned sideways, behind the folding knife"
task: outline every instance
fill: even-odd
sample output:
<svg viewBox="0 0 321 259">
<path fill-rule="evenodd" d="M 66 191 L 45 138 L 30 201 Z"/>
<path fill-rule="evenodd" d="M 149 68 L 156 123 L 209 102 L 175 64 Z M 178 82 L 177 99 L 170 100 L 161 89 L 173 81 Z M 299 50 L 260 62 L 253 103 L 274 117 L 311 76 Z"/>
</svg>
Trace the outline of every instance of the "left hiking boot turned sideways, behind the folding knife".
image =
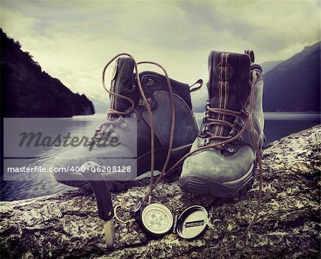
<svg viewBox="0 0 321 259">
<path fill-rule="evenodd" d="M 55 167 L 76 168 L 76 166 L 81 167 L 86 162 L 98 163 L 101 166 L 103 177 L 109 181 L 108 185 L 114 191 L 126 190 L 133 184 L 133 180 L 141 180 L 151 176 L 151 173 L 148 173 L 151 170 L 151 125 L 148 111 L 146 111 L 137 86 L 136 73 L 133 73 L 134 67 L 135 61 L 133 58 L 118 58 L 111 83 L 113 92 L 131 98 L 134 108 L 131 108 L 129 101 L 113 97 L 111 108 L 126 112 L 126 115 L 112 114 L 98 132 L 99 136 L 108 136 L 110 132 L 116 134 L 121 139 L 121 145 L 113 148 L 94 145 L 91 150 L 90 147 L 72 148 L 71 151 L 61 153 L 56 157 Z M 151 71 L 143 71 L 139 74 L 139 77 L 154 118 L 155 170 L 161 171 L 168 153 L 171 127 L 172 110 L 168 84 L 165 76 Z M 186 83 L 180 83 L 173 79 L 170 79 L 170 83 L 173 87 L 175 103 L 175 133 L 168 166 L 173 165 L 185 153 L 188 153 L 198 134 L 198 126 L 192 111 L 190 87 Z M 131 119 L 134 119 L 135 122 L 132 123 Z M 131 131 L 128 130 L 129 128 L 131 128 Z M 111 159 L 116 156 L 128 158 L 128 160 L 125 162 L 121 159 Z M 137 173 L 136 170 L 127 171 L 126 168 L 130 166 L 131 162 L 137 162 Z M 108 166 L 111 166 L 109 168 L 111 170 L 108 170 Z M 118 166 L 121 166 L 121 168 L 126 166 L 126 172 L 123 172 L 123 174 L 113 172 L 113 166 L 116 166 L 117 169 Z M 55 173 L 55 177 L 58 182 L 68 186 L 90 188 L 80 172 Z"/>
</svg>

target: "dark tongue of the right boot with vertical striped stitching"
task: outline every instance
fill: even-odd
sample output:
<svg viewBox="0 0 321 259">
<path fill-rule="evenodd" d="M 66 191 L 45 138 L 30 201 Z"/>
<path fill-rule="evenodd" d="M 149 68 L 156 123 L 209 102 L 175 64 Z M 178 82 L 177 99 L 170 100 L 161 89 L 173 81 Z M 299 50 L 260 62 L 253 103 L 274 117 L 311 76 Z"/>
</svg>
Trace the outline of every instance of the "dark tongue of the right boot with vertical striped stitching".
<svg viewBox="0 0 321 259">
<path fill-rule="evenodd" d="M 212 51 L 208 57 L 209 81 L 207 83 L 210 107 L 226 108 L 240 111 L 250 93 L 250 56 Z M 211 118 L 219 118 L 233 123 L 233 116 L 218 116 L 212 113 Z M 218 133 L 217 129 L 220 130 Z M 212 132 L 228 136 L 230 128 L 213 126 Z"/>
</svg>

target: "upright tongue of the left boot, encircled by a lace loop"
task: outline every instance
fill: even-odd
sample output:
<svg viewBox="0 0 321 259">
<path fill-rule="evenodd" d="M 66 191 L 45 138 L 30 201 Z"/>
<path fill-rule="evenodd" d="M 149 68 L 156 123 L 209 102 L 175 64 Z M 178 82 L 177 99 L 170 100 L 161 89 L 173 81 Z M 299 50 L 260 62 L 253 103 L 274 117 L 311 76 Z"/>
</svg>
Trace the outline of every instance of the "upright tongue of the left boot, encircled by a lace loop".
<svg viewBox="0 0 321 259">
<path fill-rule="evenodd" d="M 131 57 L 120 57 L 116 61 L 116 66 L 113 71 L 113 80 L 111 82 L 111 91 L 114 93 L 136 99 L 136 88 L 133 87 L 134 74 L 133 69 L 135 61 Z M 131 103 L 122 98 L 113 97 L 111 108 L 116 111 L 126 111 L 131 107 Z M 116 116 L 117 117 L 117 116 Z"/>
</svg>

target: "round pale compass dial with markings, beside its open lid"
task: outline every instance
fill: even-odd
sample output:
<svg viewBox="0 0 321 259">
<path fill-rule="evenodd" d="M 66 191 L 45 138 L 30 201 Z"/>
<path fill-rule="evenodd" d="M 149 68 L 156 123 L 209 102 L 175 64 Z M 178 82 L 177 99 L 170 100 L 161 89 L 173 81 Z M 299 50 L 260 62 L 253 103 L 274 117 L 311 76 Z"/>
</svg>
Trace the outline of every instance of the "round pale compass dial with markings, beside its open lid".
<svg viewBox="0 0 321 259">
<path fill-rule="evenodd" d="M 150 204 L 142 213 L 142 220 L 147 230 L 155 234 L 163 234 L 173 225 L 173 215 L 161 204 Z"/>
</svg>

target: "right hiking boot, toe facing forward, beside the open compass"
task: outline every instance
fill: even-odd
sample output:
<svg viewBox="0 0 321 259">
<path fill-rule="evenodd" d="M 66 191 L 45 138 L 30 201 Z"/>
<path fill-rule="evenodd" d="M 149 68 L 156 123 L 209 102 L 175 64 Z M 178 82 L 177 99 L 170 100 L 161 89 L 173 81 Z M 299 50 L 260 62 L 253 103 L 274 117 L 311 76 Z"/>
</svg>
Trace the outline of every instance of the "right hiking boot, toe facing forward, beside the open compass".
<svg viewBox="0 0 321 259">
<path fill-rule="evenodd" d="M 196 151 L 186 158 L 179 180 L 185 192 L 228 198 L 244 195 L 253 185 L 255 145 L 250 124 L 245 122 L 249 119 L 252 86 L 255 87 L 253 130 L 261 149 L 265 140 L 263 77 L 262 68 L 251 64 L 253 51 L 245 53 L 248 54 L 210 53 L 208 103 L 191 151 L 214 143 L 218 146 Z M 253 73 L 256 80 L 251 84 Z M 244 131 L 243 134 L 240 131 Z M 234 136 L 238 136 L 234 141 L 219 144 Z"/>
</svg>

